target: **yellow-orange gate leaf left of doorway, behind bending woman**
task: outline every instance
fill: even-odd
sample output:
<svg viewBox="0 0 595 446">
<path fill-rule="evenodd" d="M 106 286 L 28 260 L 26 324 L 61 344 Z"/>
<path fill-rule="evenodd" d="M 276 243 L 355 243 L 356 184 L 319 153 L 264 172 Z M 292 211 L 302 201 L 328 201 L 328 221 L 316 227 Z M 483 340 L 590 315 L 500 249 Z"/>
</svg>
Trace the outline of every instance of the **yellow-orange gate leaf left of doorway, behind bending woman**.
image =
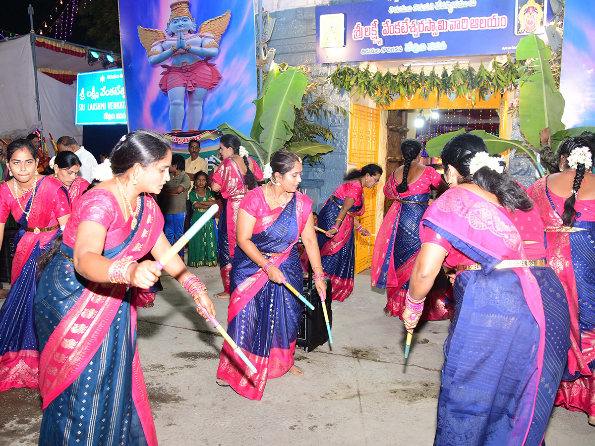
<svg viewBox="0 0 595 446">
<path fill-rule="evenodd" d="M 351 104 L 349 123 L 349 162 L 358 168 L 367 164 L 378 164 L 378 138 L 380 128 L 380 110 L 364 105 Z M 359 223 L 376 234 L 376 194 L 374 189 L 364 188 L 365 213 L 359 217 Z M 355 233 L 355 274 L 372 266 L 372 249 L 375 235 L 364 237 Z"/>
</svg>

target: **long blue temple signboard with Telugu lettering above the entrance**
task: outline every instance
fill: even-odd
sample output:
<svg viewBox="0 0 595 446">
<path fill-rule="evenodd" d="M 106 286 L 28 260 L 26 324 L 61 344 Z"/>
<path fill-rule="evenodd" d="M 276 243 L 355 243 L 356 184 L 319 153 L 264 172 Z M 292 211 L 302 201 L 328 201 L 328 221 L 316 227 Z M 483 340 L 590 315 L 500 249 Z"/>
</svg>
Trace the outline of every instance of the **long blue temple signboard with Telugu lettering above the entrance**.
<svg viewBox="0 0 595 446">
<path fill-rule="evenodd" d="M 317 61 L 515 52 L 550 17 L 547 0 L 374 0 L 316 8 Z"/>
</svg>

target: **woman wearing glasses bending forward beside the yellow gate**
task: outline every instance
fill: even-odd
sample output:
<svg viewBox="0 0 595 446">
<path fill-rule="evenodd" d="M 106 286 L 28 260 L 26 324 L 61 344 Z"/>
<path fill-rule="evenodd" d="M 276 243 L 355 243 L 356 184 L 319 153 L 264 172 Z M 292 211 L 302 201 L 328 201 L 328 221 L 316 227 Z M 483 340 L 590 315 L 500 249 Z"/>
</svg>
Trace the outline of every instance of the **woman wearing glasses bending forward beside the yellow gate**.
<svg viewBox="0 0 595 446">
<path fill-rule="evenodd" d="M 326 234 L 317 234 L 324 274 L 333 284 L 333 300 L 343 301 L 353 291 L 355 275 L 355 229 L 371 235 L 356 221 L 364 215 L 364 187 L 374 189 L 382 168 L 368 164 L 347 172 L 344 183 L 333 192 L 318 214 L 318 227 Z"/>
</svg>

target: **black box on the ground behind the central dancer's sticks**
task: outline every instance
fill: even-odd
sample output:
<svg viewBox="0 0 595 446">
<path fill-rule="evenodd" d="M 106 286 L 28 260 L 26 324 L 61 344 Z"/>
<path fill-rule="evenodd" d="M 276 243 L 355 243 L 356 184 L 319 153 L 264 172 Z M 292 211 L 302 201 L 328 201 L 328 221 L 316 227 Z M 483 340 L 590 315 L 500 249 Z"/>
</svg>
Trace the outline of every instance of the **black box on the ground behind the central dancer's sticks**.
<svg viewBox="0 0 595 446">
<path fill-rule="evenodd" d="M 327 306 L 328 321 L 332 328 L 333 310 L 331 309 L 331 303 L 333 300 L 331 298 L 331 291 L 333 285 L 328 277 L 326 281 L 327 297 L 324 302 Z M 314 310 L 306 308 L 305 304 L 303 305 L 304 312 L 302 314 L 299 332 L 297 332 L 296 346 L 302 347 L 305 351 L 312 351 L 314 348 L 328 341 L 327 324 L 324 321 L 324 313 L 322 312 L 322 301 L 312 281 L 312 268 L 308 271 L 308 277 L 303 279 L 303 296 L 314 305 Z"/>
</svg>

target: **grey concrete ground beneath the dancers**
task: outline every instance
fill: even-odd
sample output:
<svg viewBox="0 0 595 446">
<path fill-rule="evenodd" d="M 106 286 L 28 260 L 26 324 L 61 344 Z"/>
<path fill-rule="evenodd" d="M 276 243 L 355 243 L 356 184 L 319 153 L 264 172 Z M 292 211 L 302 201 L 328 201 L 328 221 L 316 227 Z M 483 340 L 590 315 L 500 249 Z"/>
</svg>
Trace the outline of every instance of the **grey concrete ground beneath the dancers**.
<svg viewBox="0 0 595 446">
<path fill-rule="evenodd" d="M 217 268 L 194 271 L 211 295 L 221 290 Z M 369 276 L 355 293 L 333 304 L 333 348 L 296 351 L 302 377 L 289 373 L 267 383 L 262 401 L 249 401 L 215 384 L 223 338 L 195 313 L 170 277 L 155 307 L 139 310 L 138 338 L 157 436 L 162 445 L 431 445 L 447 321 L 429 322 L 414 335 L 408 362 L 405 331 L 382 309 L 384 294 Z M 228 300 L 215 300 L 226 321 Z M 42 416 L 39 392 L 0 393 L 0 445 L 36 445 Z M 548 446 L 595 444 L 587 417 L 555 408 Z"/>
</svg>

